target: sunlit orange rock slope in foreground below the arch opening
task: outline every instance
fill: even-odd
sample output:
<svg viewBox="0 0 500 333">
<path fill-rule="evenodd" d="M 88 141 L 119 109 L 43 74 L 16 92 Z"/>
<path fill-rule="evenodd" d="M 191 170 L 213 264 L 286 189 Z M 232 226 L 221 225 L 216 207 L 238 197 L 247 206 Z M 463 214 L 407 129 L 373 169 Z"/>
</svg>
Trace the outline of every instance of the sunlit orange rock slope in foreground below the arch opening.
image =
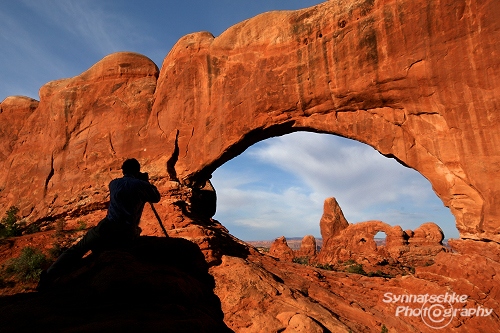
<svg viewBox="0 0 500 333">
<path fill-rule="evenodd" d="M 492 244 L 490 251 L 493 249 L 498 250 L 498 245 Z M 477 274 L 485 264 L 488 268 Z M 496 315 L 500 309 L 500 278 L 495 275 L 499 265 L 499 261 L 479 253 L 441 252 L 435 264 L 418 267 L 415 274 L 386 279 L 250 255 L 246 259 L 223 257 L 223 263 L 210 268 L 210 273 L 215 277 L 215 292 L 222 303 L 224 320 L 235 332 L 293 332 L 291 318 L 297 315 L 302 325 L 317 324 L 311 332 L 319 326 L 323 332 L 380 333 L 385 326 L 389 332 L 432 333 L 436 329 L 423 323 L 420 316 L 395 315 L 399 306 L 420 309 L 422 304 L 393 301 L 389 297 L 456 293 L 466 295 L 467 300 L 454 308 L 493 309 L 489 316 L 453 317 L 445 329 L 466 333 L 500 328 Z M 467 282 L 469 274 L 474 275 L 472 284 Z"/>
</svg>

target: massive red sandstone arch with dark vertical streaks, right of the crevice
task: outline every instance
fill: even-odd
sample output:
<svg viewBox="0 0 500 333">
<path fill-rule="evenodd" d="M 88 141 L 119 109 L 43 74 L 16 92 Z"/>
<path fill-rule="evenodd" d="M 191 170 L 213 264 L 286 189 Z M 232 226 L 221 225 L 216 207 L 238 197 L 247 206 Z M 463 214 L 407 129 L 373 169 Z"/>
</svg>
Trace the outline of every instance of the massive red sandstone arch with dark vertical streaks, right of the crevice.
<svg viewBox="0 0 500 333">
<path fill-rule="evenodd" d="M 494 1 L 331 1 L 184 37 L 153 105 L 178 149 L 171 176 L 204 178 L 268 137 L 332 133 L 424 175 L 462 237 L 500 240 L 495 13 Z"/>
</svg>

